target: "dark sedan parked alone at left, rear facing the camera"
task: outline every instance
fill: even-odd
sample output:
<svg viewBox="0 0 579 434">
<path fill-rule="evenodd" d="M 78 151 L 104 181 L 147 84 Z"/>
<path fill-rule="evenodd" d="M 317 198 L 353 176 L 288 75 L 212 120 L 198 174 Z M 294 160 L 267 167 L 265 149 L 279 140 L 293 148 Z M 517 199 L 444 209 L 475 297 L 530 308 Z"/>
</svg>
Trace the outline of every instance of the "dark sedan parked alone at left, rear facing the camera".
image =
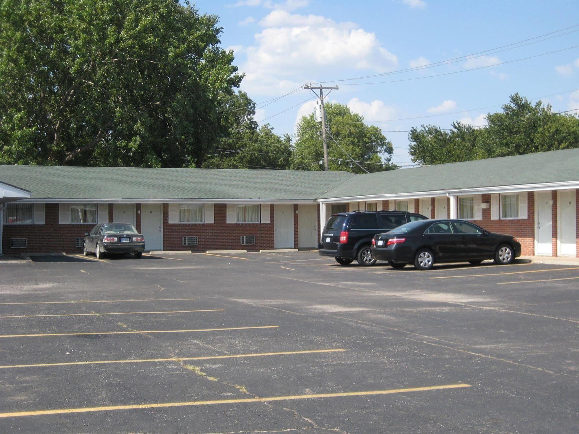
<svg viewBox="0 0 579 434">
<path fill-rule="evenodd" d="M 145 237 L 129 223 L 98 223 L 89 233 L 85 233 L 85 256 L 94 252 L 97 259 L 103 253 L 134 253 L 141 258 L 145 250 Z"/>
</svg>

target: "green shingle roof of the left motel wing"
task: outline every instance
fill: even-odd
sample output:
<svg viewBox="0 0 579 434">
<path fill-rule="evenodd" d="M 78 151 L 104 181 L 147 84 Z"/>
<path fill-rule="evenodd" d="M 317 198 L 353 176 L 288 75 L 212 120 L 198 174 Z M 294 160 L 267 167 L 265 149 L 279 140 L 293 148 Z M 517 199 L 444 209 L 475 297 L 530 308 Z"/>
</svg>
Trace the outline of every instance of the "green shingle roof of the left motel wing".
<svg viewBox="0 0 579 434">
<path fill-rule="evenodd" d="M 308 200 L 350 172 L 0 165 L 31 198 Z"/>
</svg>

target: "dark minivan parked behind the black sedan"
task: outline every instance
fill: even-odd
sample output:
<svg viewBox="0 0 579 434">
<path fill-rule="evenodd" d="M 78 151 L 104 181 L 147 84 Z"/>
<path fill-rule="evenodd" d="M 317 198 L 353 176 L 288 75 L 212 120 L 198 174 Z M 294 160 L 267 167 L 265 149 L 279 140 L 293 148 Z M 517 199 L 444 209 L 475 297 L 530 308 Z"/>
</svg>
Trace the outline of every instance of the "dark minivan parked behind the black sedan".
<svg viewBox="0 0 579 434">
<path fill-rule="evenodd" d="M 373 265 L 372 238 L 395 227 L 416 220 L 428 220 L 421 214 L 406 211 L 354 211 L 332 215 L 318 244 L 320 256 L 334 256 L 341 265 L 354 259 L 360 265 Z"/>
</svg>

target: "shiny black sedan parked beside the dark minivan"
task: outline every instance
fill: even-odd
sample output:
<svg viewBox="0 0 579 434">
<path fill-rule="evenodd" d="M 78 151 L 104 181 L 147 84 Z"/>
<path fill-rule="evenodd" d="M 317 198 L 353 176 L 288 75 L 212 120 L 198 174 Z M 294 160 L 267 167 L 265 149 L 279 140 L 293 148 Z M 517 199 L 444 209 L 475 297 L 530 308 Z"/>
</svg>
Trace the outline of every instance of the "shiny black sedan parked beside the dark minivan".
<svg viewBox="0 0 579 434">
<path fill-rule="evenodd" d="M 521 243 L 464 220 L 418 220 L 376 235 L 372 255 L 395 269 L 414 264 L 429 270 L 435 262 L 479 264 L 485 259 L 503 265 L 521 256 Z"/>
</svg>

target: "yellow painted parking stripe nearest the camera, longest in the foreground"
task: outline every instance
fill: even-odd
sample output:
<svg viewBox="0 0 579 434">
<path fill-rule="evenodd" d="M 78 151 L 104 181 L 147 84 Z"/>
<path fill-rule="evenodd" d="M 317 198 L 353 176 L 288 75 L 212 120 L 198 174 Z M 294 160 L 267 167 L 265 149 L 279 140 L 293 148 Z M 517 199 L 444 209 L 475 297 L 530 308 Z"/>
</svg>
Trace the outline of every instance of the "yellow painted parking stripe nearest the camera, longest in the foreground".
<svg viewBox="0 0 579 434">
<path fill-rule="evenodd" d="M 405 392 L 426 392 L 442 389 L 457 389 L 471 387 L 470 384 L 445 384 L 440 386 L 411 387 L 405 389 L 388 389 L 364 392 L 338 392 L 338 393 L 311 393 L 310 395 L 285 395 L 285 396 L 267 396 L 265 398 L 241 398 L 241 399 L 215 399 L 208 401 L 184 401 L 184 402 L 160 402 L 151 404 L 126 404 L 118 406 L 101 406 L 101 407 L 81 407 L 78 409 L 54 409 L 54 410 L 34 410 L 34 411 L 10 411 L 0 413 L 2 417 L 23 417 L 23 416 L 41 416 L 47 414 L 70 414 L 70 413 L 88 413 L 90 411 L 111 411 L 111 410 L 136 410 L 136 409 L 159 409 L 163 407 L 186 407 L 215 404 L 236 404 L 245 402 L 268 402 L 268 401 L 287 401 L 296 399 L 313 399 L 313 398 L 343 398 L 346 396 L 372 396 L 372 395 L 390 395 L 392 393 Z"/>
</svg>

